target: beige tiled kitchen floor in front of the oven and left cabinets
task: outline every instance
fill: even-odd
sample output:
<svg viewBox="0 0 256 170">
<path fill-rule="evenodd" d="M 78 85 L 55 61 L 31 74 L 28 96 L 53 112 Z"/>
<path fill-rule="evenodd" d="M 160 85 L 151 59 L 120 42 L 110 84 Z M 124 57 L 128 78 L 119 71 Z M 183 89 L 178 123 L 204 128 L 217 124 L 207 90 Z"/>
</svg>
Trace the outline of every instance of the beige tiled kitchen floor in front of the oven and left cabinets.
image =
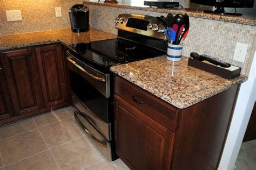
<svg viewBox="0 0 256 170">
<path fill-rule="evenodd" d="M 0 170 L 9 169 L 129 168 L 108 162 L 68 107 L 0 127 Z"/>
</svg>

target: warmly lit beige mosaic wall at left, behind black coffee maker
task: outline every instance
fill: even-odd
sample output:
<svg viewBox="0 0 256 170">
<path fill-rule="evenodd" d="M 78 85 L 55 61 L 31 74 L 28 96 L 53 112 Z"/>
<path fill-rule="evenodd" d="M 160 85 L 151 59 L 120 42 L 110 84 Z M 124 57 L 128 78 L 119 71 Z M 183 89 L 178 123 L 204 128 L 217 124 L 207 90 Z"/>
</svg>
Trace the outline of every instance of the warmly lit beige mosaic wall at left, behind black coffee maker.
<svg viewBox="0 0 256 170">
<path fill-rule="evenodd" d="M 0 0 L 0 34 L 13 34 L 70 27 L 68 10 L 82 0 Z M 55 16 L 62 8 L 62 17 Z M 6 10 L 21 10 L 22 21 L 7 22 Z"/>
</svg>

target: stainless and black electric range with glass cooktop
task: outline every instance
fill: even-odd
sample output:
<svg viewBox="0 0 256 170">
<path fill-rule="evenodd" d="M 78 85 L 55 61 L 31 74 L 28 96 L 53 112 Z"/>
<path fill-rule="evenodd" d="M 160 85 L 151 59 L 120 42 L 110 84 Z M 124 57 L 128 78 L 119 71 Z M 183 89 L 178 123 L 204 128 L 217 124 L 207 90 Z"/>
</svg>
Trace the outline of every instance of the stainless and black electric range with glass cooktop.
<svg viewBox="0 0 256 170">
<path fill-rule="evenodd" d="M 156 17 L 119 15 L 118 38 L 73 44 L 66 52 L 75 118 L 99 151 L 111 161 L 113 108 L 110 67 L 166 54 L 164 34 L 152 30 Z"/>
</svg>

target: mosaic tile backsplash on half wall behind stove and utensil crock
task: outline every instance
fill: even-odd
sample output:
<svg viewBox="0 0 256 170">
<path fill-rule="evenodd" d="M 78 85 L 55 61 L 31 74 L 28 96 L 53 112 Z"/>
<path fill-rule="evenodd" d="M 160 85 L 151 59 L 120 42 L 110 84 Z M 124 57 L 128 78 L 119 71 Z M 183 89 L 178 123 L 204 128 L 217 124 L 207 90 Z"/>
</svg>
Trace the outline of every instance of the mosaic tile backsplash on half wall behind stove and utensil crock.
<svg viewBox="0 0 256 170">
<path fill-rule="evenodd" d="M 95 29 L 117 35 L 114 19 L 119 13 L 142 13 L 151 16 L 166 16 L 166 13 L 116 8 L 112 6 L 88 5 L 91 14 L 91 26 Z M 190 17 L 190 32 L 184 40 L 183 55 L 190 56 L 191 52 L 208 54 L 221 60 L 242 67 L 241 74 L 248 75 L 250 58 L 255 51 L 256 26 L 221 22 L 203 18 Z M 246 61 L 240 63 L 233 60 L 236 42 L 248 44 Z M 253 44 L 254 43 L 254 44 Z"/>
</svg>

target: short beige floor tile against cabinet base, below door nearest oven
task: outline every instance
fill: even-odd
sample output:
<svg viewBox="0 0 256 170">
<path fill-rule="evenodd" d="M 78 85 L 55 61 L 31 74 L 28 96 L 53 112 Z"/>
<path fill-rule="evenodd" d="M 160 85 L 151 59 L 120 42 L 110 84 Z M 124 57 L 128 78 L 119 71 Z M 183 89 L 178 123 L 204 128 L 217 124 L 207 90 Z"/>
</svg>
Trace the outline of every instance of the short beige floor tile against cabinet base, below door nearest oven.
<svg viewBox="0 0 256 170">
<path fill-rule="evenodd" d="M 58 119 L 52 114 L 52 112 L 33 117 L 33 119 L 36 122 L 38 128 L 54 122 L 58 122 Z"/>
</svg>

